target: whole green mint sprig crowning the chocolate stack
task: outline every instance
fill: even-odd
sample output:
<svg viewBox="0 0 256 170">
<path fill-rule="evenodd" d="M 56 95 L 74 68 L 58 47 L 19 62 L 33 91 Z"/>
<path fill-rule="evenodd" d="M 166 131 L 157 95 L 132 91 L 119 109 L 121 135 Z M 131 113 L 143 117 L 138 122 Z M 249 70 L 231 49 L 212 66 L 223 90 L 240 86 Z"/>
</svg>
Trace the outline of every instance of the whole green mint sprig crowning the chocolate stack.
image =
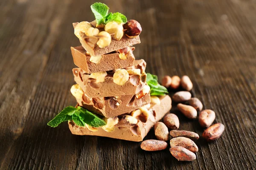
<svg viewBox="0 0 256 170">
<path fill-rule="evenodd" d="M 100 24 L 107 24 L 111 21 L 116 21 L 117 23 L 126 23 L 127 18 L 125 15 L 116 12 L 116 13 L 109 13 L 108 14 L 108 6 L 104 3 L 93 3 L 93 5 L 90 6 L 91 10 L 93 11 L 93 14 L 96 18 L 96 23 L 98 25 Z"/>
</svg>

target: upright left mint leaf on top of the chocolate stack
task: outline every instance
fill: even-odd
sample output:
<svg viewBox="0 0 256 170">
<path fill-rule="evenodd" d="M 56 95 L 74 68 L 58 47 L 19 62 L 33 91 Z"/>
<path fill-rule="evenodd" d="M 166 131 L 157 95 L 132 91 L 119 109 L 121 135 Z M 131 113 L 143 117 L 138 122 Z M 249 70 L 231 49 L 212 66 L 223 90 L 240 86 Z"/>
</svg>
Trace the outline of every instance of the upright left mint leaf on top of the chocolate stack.
<svg viewBox="0 0 256 170">
<path fill-rule="evenodd" d="M 104 24 L 105 17 L 108 15 L 108 6 L 106 6 L 104 3 L 93 3 L 93 5 L 90 7 L 96 18 L 97 24 Z"/>
</svg>

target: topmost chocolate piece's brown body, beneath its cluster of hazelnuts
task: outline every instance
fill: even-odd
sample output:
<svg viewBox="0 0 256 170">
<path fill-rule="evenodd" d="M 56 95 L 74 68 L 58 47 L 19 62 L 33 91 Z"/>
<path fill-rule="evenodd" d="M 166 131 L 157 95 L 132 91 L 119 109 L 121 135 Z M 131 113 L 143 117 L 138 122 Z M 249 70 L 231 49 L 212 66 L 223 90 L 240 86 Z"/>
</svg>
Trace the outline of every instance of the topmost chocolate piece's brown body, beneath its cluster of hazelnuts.
<svg viewBox="0 0 256 170">
<path fill-rule="evenodd" d="M 110 45 L 108 45 L 105 48 L 99 48 L 99 46 L 97 44 L 95 44 L 94 48 L 91 48 L 89 45 L 87 45 L 87 43 L 85 42 L 85 40 L 80 40 L 81 45 L 84 47 L 84 49 L 90 53 L 93 56 L 99 56 L 102 54 L 108 54 L 112 51 L 116 51 L 125 47 L 129 47 L 135 44 L 139 44 L 140 43 L 140 36 L 134 37 L 134 38 L 128 38 L 126 37 L 126 35 L 124 34 L 124 36 L 122 37 L 122 39 L 120 41 L 117 40 L 113 40 L 111 39 L 111 43 Z"/>
</svg>

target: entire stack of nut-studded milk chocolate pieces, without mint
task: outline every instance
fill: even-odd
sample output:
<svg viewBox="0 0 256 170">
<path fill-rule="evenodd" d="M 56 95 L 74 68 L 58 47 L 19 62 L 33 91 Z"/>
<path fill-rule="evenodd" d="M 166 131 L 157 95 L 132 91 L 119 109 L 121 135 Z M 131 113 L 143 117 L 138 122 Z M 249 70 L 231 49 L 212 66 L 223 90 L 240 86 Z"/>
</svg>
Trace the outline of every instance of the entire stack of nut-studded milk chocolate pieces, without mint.
<svg viewBox="0 0 256 170">
<path fill-rule="evenodd" d="M 171 109 L 171 99 L 168 95 L 150 96 L 146 62 L 134 58 L 132 45 L 140 43 L 140 24 L 129 20 L 125 24 L 113 21 L 98 26 L 93 21 L 73 26 L 81 46 L 71 47 L 78 66 L 73 68 L 77 84 L 72 86 L 71 93 L 79 106 L 99 115 L 106 125 L 81 127 L 70 120 L 71 132 L 142 141 Z"/>
</svg>

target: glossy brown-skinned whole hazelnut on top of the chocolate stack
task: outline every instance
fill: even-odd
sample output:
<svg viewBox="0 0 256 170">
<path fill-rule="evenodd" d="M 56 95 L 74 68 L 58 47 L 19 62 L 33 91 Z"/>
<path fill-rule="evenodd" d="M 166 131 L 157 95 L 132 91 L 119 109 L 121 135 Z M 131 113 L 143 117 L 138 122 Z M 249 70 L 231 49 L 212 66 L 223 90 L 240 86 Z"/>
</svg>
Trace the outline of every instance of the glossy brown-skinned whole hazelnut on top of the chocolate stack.
<svg viewBox="0 0 256 170">
<path fill-rule="evenodd" d="M 123 27 L 126 30 L 125 35 L 129 38 L 137 37 L 142 31 L 140 23 L 136 20 L 128 20 Z"/>
</svg>

